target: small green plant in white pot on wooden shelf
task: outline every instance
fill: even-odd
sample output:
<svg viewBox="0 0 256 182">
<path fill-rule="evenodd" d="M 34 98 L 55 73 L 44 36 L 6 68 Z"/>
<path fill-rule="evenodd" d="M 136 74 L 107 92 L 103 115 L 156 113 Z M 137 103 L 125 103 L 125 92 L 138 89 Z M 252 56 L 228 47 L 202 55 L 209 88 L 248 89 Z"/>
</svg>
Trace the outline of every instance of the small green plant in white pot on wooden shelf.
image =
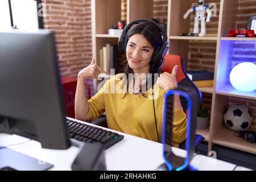
<svg viewBox="0 0 256 182">
<path fill-rule="evenodd" d="M 209 107 L 201 104 L 197 111 L 196 127 L 198 129 L 207 129 L 209 118 Z"/>
</svg>

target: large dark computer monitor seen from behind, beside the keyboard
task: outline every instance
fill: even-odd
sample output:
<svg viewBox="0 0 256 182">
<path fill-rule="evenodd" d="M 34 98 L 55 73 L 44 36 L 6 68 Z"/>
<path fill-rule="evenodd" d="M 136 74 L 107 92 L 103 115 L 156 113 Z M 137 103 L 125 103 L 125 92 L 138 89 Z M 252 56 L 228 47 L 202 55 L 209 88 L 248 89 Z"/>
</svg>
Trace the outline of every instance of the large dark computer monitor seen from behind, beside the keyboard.
<svg viewBox="0 0 256 182">
<path fill-rule="evenodd" d="M 0 31 L 0 132 L 71 146 L 52 32 Z"/>
</svg>

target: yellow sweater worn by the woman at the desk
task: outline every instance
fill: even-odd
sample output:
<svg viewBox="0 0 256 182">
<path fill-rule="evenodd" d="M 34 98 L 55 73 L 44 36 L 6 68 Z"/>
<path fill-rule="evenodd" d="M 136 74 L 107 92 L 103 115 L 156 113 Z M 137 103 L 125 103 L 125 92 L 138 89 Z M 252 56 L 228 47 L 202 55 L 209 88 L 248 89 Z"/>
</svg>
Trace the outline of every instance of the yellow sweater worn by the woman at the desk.
<svg viewBox="0 0 256 182">
<path fill-rule="evenodd" d="M 125 93 L 110 93 L 111 87 L 112 89 L 121 88 L 122 81 L 118 78 L 120 75 L 115 75 L 107 80 L 101 90 L 94 97 L 90 98 L 88 101 L 89 119 L 97 118 L 106 111 L 109 129 L 161 142 L 164 90 L 160 88 L 155 89 L 154 86 L 154 97 L 157 96 L 156 92 L 158 92 L 158 98 L 154 100 L 158 139 L 152 100 L 143 97 L 142 94 L 128 93 L 125 96 Z M 152 96 L 151 92 L 147 91 L 146 94 L 147 96 Z M 123 98 L 123 96 L 125 97 Z M 187 119 L 183 109 L 175 111 L 172 146 L 179 147 L 179 143 L 184 141 L 186 127 Z"/>
</svg>

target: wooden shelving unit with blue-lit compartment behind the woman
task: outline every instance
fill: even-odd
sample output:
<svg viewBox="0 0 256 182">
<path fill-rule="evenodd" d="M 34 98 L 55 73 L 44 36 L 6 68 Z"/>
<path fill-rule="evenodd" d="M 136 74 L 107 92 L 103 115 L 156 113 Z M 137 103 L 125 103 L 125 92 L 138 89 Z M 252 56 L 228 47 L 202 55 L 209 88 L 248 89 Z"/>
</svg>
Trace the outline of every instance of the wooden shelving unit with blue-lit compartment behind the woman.
<svg viewBox="0 0 256 182">
<path fill-rule="evenodd" d="M 223 122 L 223 112 L 229 105 L 229 99 L 246 99 L 256 103 L 256 91 L 245 93 L 235 90 L 229 82 L 232 67 L 232 53 L 236 42 L 255 42 L 256 38 L 228 38 L 228 32 L 236 28 L 238 0 L 213 0 L 217 3 L 217 28 L 205 37 L 179 36 L 191 28 L 189 19 L 184 20 L 183 14 L 196 1 L 168 0 L 167 35 L 170 39 L 169 54 L 180 55 L 184 60 L 189 59 L 190 43 L 211 43 L 216 47 L 214 52 L 214 84 L 199 88 L 201 92 L 212 95 L 210 122 L 208 129 L 197 129 L 196 133 L 205 137 L 208 142 L 208 152 L 213 144 L 220 144 L 237 150 L 256 154 L 256 144 L 249 143 L 234 136 L 234 131 L 228 129 Z M 127 23 L 135 19 L 153 18 L 152 0 L 127 0 Z M 118 44 L 118 36 L 108 35 L 108 29 L 121 19 L 121 0 L 91 0 L 92 6 L 92 52 L 98 59 L 98 49 L 106 43 Z M 187 67 L 188 63 L 185 63 Z M 94 82 L 97 88 L 97 82 Z M 255 130 L 255 129 L 254 129 Z"/>
</svg>

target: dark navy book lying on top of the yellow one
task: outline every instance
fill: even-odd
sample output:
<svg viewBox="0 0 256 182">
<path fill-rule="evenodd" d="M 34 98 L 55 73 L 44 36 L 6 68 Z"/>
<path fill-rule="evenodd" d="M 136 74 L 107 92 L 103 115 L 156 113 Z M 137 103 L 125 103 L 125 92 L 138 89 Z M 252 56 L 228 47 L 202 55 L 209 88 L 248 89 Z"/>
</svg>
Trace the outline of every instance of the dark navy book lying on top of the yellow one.
<svg viewBox="0 0 256 182">
<path fill-rule="evenodd" d="M 188 77 L 192 81 L 213 80 L 214 73 L 209 71 L 188 71 Z"/>
</svg>

